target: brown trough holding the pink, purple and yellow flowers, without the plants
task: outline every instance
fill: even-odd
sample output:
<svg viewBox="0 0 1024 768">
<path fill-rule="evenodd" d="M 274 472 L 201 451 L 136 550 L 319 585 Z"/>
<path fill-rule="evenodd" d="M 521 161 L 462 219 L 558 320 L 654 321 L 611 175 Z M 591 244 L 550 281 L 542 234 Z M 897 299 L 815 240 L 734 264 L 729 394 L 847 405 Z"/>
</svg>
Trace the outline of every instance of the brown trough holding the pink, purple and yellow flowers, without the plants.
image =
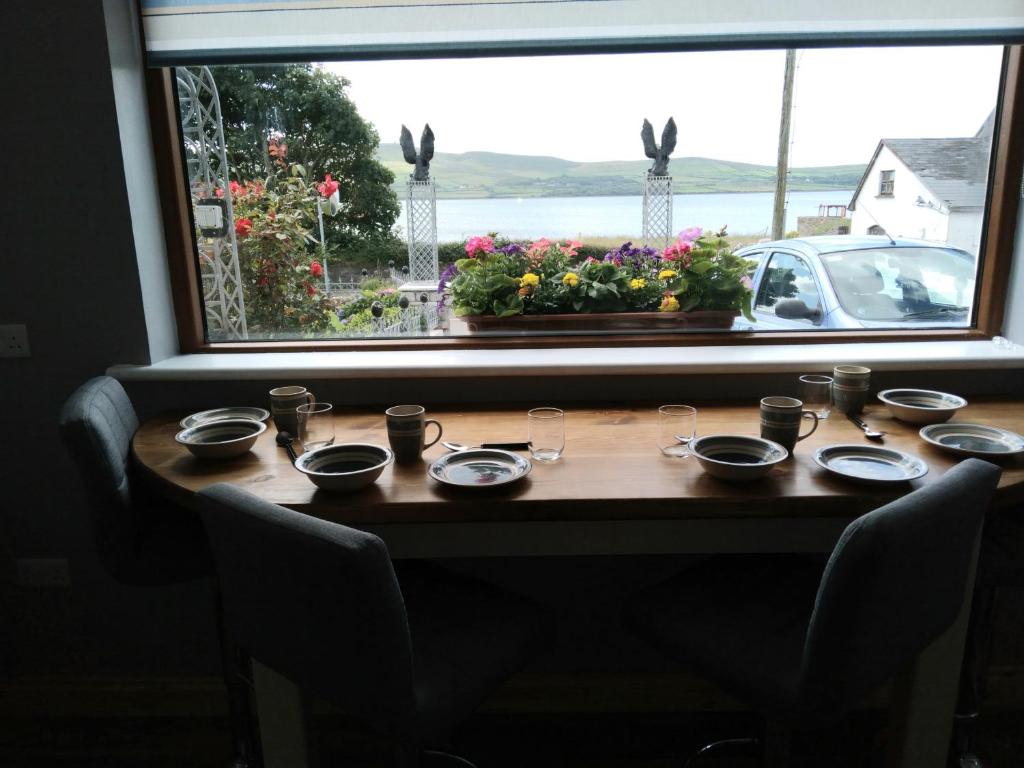
<svg viewBox="0 0 1024 768">
<path fill-rule="evenodd" d="M 607 312 L 573 314 L 516 314 L 496 317 L 493 314 L 467 314 L 453 317 L 466 324 L 469 333 L 545 331 L 586 333 L 594 331 L 727 331 L 739 316 L 733 310 L 693 312 Z"/>
</svg>

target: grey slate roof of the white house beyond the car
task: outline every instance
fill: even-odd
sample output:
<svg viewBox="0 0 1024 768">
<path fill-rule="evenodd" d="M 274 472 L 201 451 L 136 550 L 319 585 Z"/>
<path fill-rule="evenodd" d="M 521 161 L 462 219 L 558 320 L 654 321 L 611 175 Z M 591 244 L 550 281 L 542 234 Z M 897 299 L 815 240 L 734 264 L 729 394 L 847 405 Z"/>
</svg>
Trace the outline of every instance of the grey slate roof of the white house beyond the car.
<svg viewBox="0 0 1024 768">
<path fill-rule="evenodd" d="M 990 141 L 984 127 L 973 138 L 884 138 L 857 184 L 850 209 L 856 209 L 857 198 L 883 146 L 888 146 L 950 209 L 981 208 L 985 205 Z"/>
</svg>

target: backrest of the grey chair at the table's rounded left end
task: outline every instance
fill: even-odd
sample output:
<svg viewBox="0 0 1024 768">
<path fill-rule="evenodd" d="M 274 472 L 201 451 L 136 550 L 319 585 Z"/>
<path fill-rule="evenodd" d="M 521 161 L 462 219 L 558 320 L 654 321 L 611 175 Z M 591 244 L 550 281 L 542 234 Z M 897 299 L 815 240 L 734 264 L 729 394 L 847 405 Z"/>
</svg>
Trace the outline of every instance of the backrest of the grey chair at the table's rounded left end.
<svg viewBox="0 0 1024 768">
<path fill-rule="evenodd" d="M 138 534 L 129 471 L 135 409 L 117 379 L 99 376 L 68 399 L 59 426 L 85 483 L 100 562 L 117 577 L 134 558 Z"/>
</svg>

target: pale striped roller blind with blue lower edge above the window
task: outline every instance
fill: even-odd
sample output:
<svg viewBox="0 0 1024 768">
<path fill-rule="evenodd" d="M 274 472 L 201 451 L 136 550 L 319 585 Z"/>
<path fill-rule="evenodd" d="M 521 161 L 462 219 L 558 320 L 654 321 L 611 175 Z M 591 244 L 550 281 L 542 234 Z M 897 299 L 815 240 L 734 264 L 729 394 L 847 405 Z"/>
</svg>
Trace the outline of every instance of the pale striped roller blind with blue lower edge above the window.
<svg viewBox="0 0 1024 768">
<path fill-rule="evenodd" d="M 154 67 L 1024 41 L 1024 0 L 139 0 Z"/>
</svg>

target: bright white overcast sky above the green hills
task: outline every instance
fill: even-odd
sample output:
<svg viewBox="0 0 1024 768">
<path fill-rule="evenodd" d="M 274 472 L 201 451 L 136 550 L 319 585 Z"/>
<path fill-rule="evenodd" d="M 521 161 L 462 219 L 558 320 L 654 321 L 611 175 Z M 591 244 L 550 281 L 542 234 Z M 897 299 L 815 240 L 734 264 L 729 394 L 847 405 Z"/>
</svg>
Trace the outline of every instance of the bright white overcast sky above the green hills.
<svg viewBox="0 0 1024 768">
<path fill-rule="evenodd" d="M 994 108 L 1002 49 L 849 48 L 798 53 L 790 165 L 864 164 L 881 138 L 972 136 Z M 643 160 L 646 118 L 674 157 L 774 165 L 784 52 L 721 51 L 324 65 L 396 142 L 436 151 Z"/>
</svg>

